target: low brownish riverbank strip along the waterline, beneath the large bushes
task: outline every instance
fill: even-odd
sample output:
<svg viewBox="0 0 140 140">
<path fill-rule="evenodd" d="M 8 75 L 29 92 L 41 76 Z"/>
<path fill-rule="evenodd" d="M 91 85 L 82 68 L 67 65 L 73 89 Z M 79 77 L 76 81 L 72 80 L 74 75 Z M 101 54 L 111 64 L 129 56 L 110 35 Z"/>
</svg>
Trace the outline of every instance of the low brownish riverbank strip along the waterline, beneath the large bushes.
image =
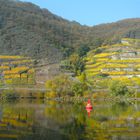
<svg viewBox="0 0 140 140">
<path fill-rule="evenodd" d="M 98 96 L 96 96 L 99 94 Z M 104 94 L 104 93 L 103 93 Z M 102 94 L 102 95 L 103 95 Z M 134 103 L 140 101 L 140 97 L 123 97 L 123 96 L 101 96 L 100 93 L 91 94 L 88 96 L 63 96 L 63 97 L 49 97 L 44 91 L 31 90 L 4 90 L 0 94 L 0 100 L 20 101 L 20 100 L 43 100 L 43 101 L 58 101 L 58 102 L 87 102 L 90 99 L 92 102 L 129 102 Z"/>
</svg>

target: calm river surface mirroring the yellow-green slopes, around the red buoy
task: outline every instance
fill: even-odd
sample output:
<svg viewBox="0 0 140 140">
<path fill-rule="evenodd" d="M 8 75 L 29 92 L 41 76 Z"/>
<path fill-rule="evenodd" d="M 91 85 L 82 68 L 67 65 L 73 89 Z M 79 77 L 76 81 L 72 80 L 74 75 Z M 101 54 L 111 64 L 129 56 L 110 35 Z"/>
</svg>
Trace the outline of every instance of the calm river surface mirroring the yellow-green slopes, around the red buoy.
<svg viewBox="0 0 140 140">
<path fill-rule="evenodd" d="M 21 100 L 0 105 L 1 140 L 140 139 L 140 104 Z"/>
</svg>

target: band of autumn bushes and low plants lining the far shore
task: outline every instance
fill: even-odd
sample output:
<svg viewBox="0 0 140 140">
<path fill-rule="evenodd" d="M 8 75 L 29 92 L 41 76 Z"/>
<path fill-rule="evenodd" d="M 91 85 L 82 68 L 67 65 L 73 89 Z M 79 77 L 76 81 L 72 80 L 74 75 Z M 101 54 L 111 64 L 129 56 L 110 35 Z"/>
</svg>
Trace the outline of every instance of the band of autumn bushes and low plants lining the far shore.
<svg viewBox="0 0 140 140">
<path fill-rule="evenodd" d="M 46 87 L 30 85 L 1 87 L 0 99 L 4 101 L 20 99 L 43 99 L 56 101 L 140 101 L 139 88 L 128 87 L 120 81 L 112 81 L 106 89 L 94 89 L 88 82 L 60 75 L 46 82 Z"/>
</svg>

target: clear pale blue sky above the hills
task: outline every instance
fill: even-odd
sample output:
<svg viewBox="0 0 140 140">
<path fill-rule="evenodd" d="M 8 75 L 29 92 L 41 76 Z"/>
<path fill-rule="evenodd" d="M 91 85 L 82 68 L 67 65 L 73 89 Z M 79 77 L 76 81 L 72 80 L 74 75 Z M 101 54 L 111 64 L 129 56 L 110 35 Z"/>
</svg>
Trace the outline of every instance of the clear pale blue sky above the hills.
<svg viewBox="0 0 140 140">
<path fill-rule="evenodd" d="M 82 25 L 140 18 L 140 0 L 22 0 Z"/>
</svg>

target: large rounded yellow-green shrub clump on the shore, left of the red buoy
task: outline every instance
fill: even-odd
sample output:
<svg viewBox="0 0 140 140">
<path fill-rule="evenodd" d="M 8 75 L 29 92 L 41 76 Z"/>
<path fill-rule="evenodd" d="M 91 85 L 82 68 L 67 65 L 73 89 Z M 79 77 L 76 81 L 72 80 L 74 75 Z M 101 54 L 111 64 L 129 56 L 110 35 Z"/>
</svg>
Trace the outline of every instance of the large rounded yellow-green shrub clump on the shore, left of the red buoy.
<svg viewBox="0 0 140 140">
<path fill-rule="evenodd" d="M 60 75 L 46 82 L 46 88 L 49 90 L 46 96 L 62 97 L 67 95 L 83 95 L 83 92 L 87 89 L 86 87 L 86 84 L 75 78 Z"/>
</svg>

